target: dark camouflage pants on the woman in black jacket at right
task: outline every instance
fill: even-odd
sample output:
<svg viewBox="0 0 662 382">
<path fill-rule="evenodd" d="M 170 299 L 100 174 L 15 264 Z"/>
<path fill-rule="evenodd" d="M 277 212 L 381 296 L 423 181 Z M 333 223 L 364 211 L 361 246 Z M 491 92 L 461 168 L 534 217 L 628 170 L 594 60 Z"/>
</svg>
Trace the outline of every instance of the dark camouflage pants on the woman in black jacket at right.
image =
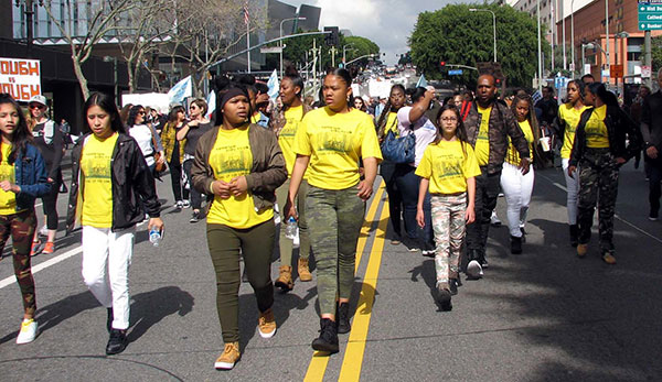
<svg viewBox="0 0 662 382">
<path fill-rule="evenodd" d="M 590 241 L 592 217 L 598 205 L 600 250 L 613 250 L 613 214 L 618 195 L 618 165 L 609 149 L 587 149 L 579 162 L 577 222 L 579 243 Z"/>
</svg>

